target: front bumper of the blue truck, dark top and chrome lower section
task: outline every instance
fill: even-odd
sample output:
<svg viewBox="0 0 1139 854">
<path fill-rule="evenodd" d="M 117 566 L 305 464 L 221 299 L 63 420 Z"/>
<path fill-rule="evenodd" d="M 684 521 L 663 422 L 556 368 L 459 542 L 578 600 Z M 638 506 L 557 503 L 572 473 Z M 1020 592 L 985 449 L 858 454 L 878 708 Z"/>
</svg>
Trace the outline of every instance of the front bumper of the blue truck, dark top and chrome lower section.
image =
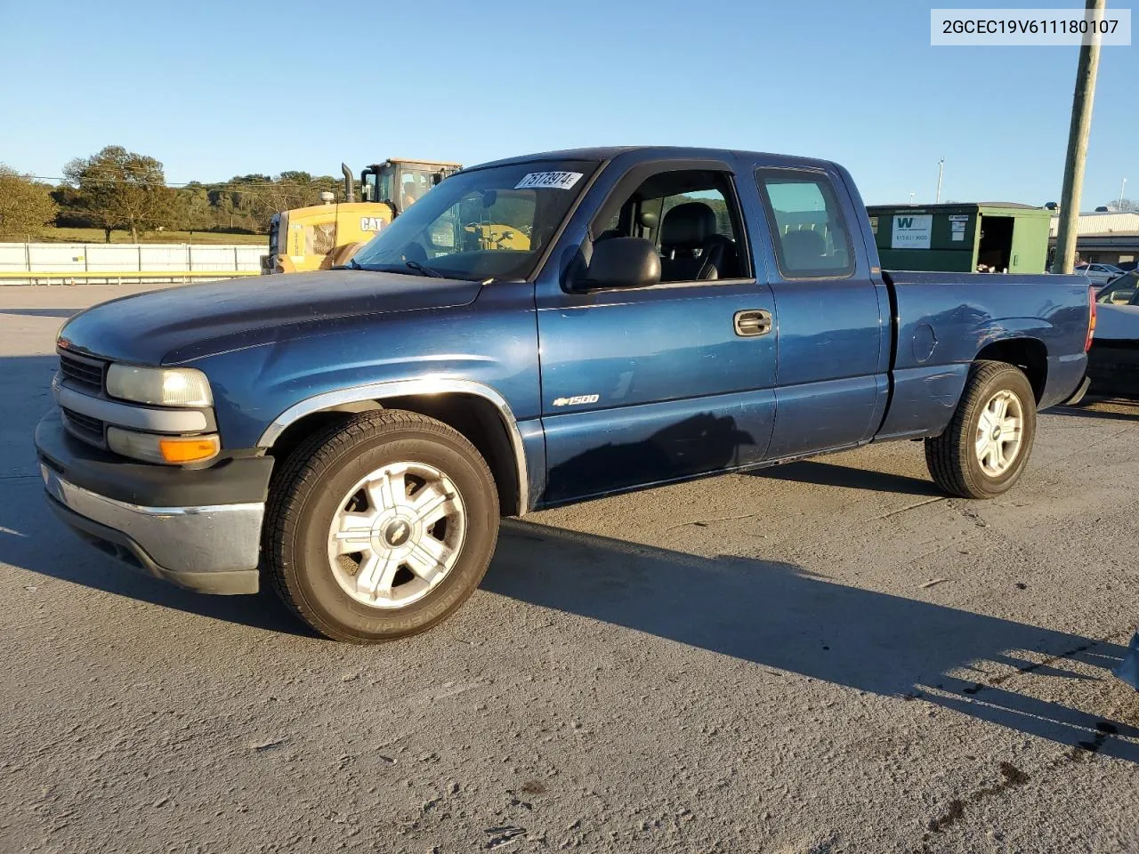
<svg viewBox="0 0 1139 854">
<path fill-rule="evenodd" d="M 261 523 L 271 460 L 256 460 L 255 466 L 235 465 L 253 460 L 233 460 L 216 471 L 192 473 L 146 466 L 140 481 L 138 476 L 132 478 L 138 466 L 122 458 L 116 465 L 108 454 L 66 435 L 58 413 L 40 422 L 35 445 L 48 503 L 83 540 L 137 569 L 188 590 L 257 592 Z M 211 473 L 213 477 L 203 477 Z M 185 506 L 146 500 L 167 498 L 171 492 L 164 479 L 153 483 L 155 476 L 179 475 L 189 476 L 188 494 L 244 500 Z M 110 490 L 92 488 L 92 482 L 99 484 L 109 477 L 114 477 L 114 492 L 120 494 L 110 496 L 104 494 Z M 134 500 L 124 500 L 124 491 Z"/>
</svg>

